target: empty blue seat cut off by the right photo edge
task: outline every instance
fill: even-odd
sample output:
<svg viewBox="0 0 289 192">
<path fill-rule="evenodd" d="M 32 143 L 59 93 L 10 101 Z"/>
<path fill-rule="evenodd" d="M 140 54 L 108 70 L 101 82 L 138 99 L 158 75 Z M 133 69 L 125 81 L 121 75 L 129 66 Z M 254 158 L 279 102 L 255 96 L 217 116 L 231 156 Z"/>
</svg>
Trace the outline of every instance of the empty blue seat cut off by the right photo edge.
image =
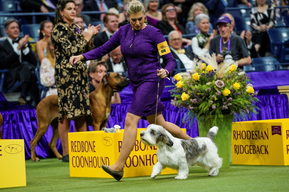
<svg viewBox="0 0 289 192">
<path fill-rule="evenodd" d="M 285 27 L 267 30 L 271 53 L 279 59 L 280 62 L 289 61 L 289 29 Z"/>
</svg>

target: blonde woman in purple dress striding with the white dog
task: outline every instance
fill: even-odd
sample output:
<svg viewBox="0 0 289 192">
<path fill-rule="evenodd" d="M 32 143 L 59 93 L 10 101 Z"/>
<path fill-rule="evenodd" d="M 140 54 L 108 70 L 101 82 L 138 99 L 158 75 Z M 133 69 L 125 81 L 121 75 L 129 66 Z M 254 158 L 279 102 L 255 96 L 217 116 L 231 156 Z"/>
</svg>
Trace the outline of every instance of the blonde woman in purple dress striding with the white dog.
<svg viewBox="0 0 289 192">
<path fill-rule="evenodd" d="M 176 67 L 176 61 L 164 35 L 159 29 L 144 23 L 145 10 L 140 1 L 129 2 L 127 17 L 130 24 L 120 27 L 103 46 L 70 58 L 70 64 L 78 66 L 81 60 L 99 59 L 121 46 L 134 98 L 125 118 L 125 131 L 118 160 L 110 167 L 102 165 L 103 170 L 116 180 L 123 177 L 123 167 L 136 143 L 140 118 L 145 117 L 150 124 L 161 125 L 177 138 L 190 138 L 177 125 L 164 120 L 162 111 L 165 110 L 165 106 L 160 97 L 157 99 L 157 95 L 162 95 L 164 90 L 164 79 L 171 76 Z M 158 53 L 164 59 L 165 69 L 160 67 Z"/>
</svg>

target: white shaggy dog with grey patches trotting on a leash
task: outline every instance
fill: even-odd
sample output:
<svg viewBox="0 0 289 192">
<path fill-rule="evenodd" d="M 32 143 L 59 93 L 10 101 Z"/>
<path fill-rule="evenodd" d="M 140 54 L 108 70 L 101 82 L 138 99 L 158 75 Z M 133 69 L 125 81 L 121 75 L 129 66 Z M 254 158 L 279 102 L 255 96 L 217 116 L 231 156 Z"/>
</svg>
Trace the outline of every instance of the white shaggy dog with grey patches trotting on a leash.
<svg viewBox="0 0 289 192">
<path fill-rule="evenodd" d="M 218 148 L 213 142 L 218 127 L 212 127 L 207 137 L 192 138 L 188 140 L 173 137 L 162 126 L 151 124 L 147 130 L 142 130 L 140 139 L 149 146 L 158 147 L 158 162 L 153 166 L 151 178 L 170 167 L 178 170 L 175 179 L 186 179 L 189 167 L 199 165 L 209 172 L 209 176 L 218 175 L 223 159 L 217 154 Z"/>
</svg>

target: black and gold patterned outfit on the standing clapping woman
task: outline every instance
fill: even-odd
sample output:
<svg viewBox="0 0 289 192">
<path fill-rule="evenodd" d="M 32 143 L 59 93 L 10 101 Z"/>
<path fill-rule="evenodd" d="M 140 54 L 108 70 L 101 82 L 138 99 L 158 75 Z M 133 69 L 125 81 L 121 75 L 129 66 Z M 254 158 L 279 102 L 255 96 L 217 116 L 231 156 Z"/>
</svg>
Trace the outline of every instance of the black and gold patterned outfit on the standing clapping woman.
<svg viewBox="0 0 289 192">
<path fill-rule="evenodd" d="M 62 21 L 57 23 L 51 33 L 51 41 L 55 49 L 55 83 L 58 92 L 59 114 L 62 121 L 63 112 L 67 119 L 79 116 L 91 116 L 89 104 L 89 84 L 86 63 L 79 61 L 69 64 L 69 58 L 91 50 L 92 43 L 87 42 L 81 27 Z"/>
</svg>

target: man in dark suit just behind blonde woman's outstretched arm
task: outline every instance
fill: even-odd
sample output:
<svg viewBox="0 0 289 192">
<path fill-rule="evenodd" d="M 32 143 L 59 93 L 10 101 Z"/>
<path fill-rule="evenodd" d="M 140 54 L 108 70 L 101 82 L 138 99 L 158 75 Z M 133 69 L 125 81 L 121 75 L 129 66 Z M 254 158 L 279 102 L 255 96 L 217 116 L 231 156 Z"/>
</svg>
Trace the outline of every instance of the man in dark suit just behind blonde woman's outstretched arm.
<svg viewBox="0 0 289 192">
<path fill-rule="evenodd" d="M 97 34 L 94 39 L 95 48 L 105 44 L 108 39 L 118 30 L 118 15 L 114 13 L 106 13 L 103 18 L 103 23 L 106 27 L 106 30 L 102 33 Z"/>
</svg>

